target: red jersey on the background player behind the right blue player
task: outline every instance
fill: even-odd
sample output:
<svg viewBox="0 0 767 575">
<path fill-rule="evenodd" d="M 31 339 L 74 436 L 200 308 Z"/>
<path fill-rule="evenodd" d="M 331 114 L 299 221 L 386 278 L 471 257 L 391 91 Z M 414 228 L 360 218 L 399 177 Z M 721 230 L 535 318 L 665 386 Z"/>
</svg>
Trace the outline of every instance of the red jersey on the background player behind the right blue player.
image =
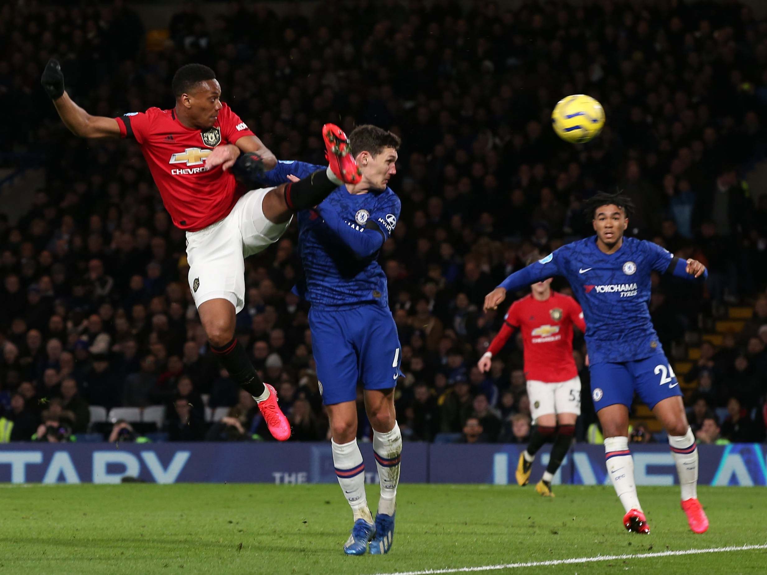
<svg viewBox="0 0 767 575">
<path fill-rule="evenodd" d="M 489 351 L 498 353 L 518 327 L 525 343 L 525 377 L 546 383 L 571 380 L 578 375 L 573 360 L 573 324 L 586 331 L 581 306 L 572 297 L 552 291 L 548 300 L 538 301 L 530 294 L 509 307 L 505 324 Z"/>
</svg>

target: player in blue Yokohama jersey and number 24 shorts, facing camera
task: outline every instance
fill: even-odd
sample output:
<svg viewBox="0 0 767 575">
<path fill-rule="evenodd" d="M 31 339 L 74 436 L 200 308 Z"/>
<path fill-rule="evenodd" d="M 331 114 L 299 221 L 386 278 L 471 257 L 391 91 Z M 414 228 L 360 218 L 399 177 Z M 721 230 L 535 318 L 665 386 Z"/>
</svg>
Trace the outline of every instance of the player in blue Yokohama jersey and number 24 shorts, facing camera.
<svg viewBox="0 0 767 575">
<path fill-rule="evenodd" d="M 675 258 L 650 241 L 624 238 L 631 202 L 601 192 L 588 202 L 596 236 L 564 245 L 511 274 L 485 298 L 495 309 L 506 291 L 551 276 L 565 276 L 583 308 L 590 360 L 591 396 L 604 432 L 607 471 L 626 514 L 628 531 L 649 533 L 637 498 L 634 460 L 628 449 L 628 410 L 638 393 L 669 434 L 690 528 L 703 533 L 708 519 L 697 498 L 698 452 L 684 412 L 679 383 L 650 320 L 650 275 L 705 279 L 700 261 Z"/>
</svg>

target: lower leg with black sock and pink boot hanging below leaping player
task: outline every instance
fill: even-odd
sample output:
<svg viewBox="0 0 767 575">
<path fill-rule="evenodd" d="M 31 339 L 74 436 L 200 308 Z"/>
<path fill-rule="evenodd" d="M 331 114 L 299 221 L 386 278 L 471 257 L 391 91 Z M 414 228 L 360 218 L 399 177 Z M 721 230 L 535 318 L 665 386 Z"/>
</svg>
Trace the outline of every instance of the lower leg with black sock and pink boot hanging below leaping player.
<svg viewBox="0 0 767 575">
<path fill-rule="evenodd" d="M 199 279 L 196 281 L 199 282 Z M 216 297 L 199 304 L 197 311 L 208 335 L 210 348 L 219 363 L 229 372 L 232 380 L 253 396 L 275 439 L 287 440 L 291 433 L 290 423 L 278 406 L 275 388 L 263 383 L 258 377 L 245 348 L 235 337 L 234 304 Z"/>
</svg>

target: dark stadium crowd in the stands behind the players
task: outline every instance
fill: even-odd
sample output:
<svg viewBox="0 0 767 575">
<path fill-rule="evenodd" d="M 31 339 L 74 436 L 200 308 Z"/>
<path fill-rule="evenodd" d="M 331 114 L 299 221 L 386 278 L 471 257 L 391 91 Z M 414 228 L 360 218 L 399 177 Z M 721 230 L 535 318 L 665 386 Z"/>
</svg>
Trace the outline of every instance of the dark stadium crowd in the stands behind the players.
<svg viewBox="0 0 767 575">
<path fill-rule="evenodd" d="M 703 343 L 686 379 L 699 382 L 688 403 L 700 441 L 764 438 L 767 194 L 755 198 L 742 175 L 767 151 L 767 21 L 735 2 L 676 0 L 468 11 L 359 0 L 322 3 L 312 18 L 233 3 L 207 21 L 188 6 L 159 48 L 147 48 L 140 18 L 119 0 L 0 8 L 0 102 L 13 110 L 0 159 L 47 169 L 46 186 L 28 190 L 31 210 L 0 219 L 0 441 L 66 440 L 89 429 L 89 406 L 153 405 L 166 406 L 171 440 L 269 439 L 252 398 L 208 350 L 183 232 L 140 150 L 65 130 L 39 81 L 52 56 L 74 100 L 113 117 L 172 107 L 176 68 L 208 64 L 222 99 L 280 159 L 323 163 L 326 121 L 402 137 L 392 182 L 402 215 L 380 261 L 403 346 L 406 439 L 526 441 L 521 339 L 489 374 L 476 368 L 502 321 L 501 311 L 482 314 L 482 299 L 531 255 L 589 235 L 581 202 L 616 187 L 636 205 L 633 235 L 709 267 L 706 291 L 692 296 L 673 279 L 653 282 L 650 313 L 670 355 L 699 330 L 700 311 L 755 304 L 742 334 Z M 571 146 L 549 117 L 579 93 L 604 104 L 607 125 Z M 290 291 L 301 274 L 295 242 L 292 226 L 245 262 L 237 331 L 277 387 L 293 439 L 324 439 L 307 308 Z M 582 338 L 574 347 L 583 439 L 595 418 Z M 720 421 L 713 410 L 725 406 Z M 216 408 L 226 415 L 206 421 Z M 140 437 L 129 422 L 100 431 Z"/>
</svg>

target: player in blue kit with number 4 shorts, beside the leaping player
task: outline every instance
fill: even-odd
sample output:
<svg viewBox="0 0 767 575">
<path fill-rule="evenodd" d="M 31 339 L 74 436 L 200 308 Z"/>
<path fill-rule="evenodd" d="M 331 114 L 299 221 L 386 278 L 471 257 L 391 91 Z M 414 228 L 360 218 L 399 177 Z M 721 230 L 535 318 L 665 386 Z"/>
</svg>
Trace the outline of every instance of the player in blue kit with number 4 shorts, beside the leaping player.
<svg viewBox="0 0 767 575">
<path fill-rule="evenodd" d="M 400 199 L 387 186 L 396 172 L 400 139 L 376 126 L 349 135 L 362 170 L 358 184 L 339 186 L 315 209 L 298 212 L 298 248 L 305 281 L 298 294 L 311 303 L 309 326 L 322 400 L 331 422 L 338 482 L 354 512 L 344 552 L 387 553 L 393 541 L 402 435 L 394 418 L 400 340 L 388 305 L 387 278 L 377 258 L 400 217 Z M 263 183 L 305 178 L 322 166 L 278 163 Z M 376 519 L 365 498 L 365 466 L 357 446 L 357 383 L 373 427 L 380 479 Z"/>
</svg>

